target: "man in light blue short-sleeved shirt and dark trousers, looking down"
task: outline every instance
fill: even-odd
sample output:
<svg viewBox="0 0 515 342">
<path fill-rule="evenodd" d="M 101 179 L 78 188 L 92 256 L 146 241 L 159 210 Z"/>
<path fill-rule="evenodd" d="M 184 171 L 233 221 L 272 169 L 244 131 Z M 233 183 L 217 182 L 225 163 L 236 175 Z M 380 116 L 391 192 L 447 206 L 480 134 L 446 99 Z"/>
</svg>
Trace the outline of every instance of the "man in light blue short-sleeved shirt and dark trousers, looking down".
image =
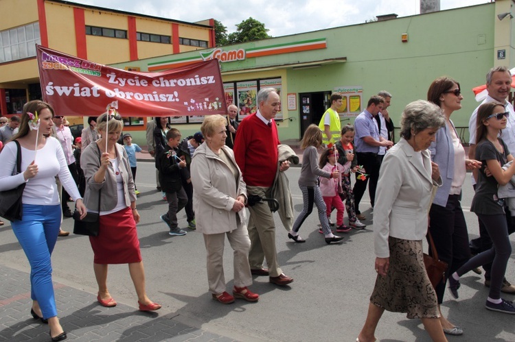
<svg viewBox="0 0 515 342">
<path fill-rule="evenodd" d="M 361 112 L 356 121 L 354 121 L 354 149 L 358 164 L 363 165 L 368 177 L 365 180 L 358 179 L 359 173 L 356 173 L 356 184 L 354 184 L 354 204 L 356 204 L 356 217 L 360 220 L 366 219 L 359 210 L 359 202 L 365 193 L 367 183 L 370 182 L 368 193 L 370 196 L 370 204 L 374 208 L 376 199 L 376 186 L 379 178 L 379 168 L 381 167 L 380 158 L 378 156 L 379 147 L 387 149 L 393 146 L 391 141 L 382 138 L 379 134 L 377 121 L 374 119 L 384 106 L 385 99 L 380 96 L 373 96 L 368 100 L 367 109 Z"/>
</svg>

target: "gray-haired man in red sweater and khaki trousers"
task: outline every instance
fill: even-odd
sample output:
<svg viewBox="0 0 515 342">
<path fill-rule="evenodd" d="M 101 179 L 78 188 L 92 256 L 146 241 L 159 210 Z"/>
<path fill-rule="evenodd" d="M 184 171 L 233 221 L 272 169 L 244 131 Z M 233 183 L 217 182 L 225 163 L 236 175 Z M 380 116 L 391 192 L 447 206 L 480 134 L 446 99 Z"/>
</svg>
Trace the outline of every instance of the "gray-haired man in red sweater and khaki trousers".
<svg viewBox="0 0 515 342">
<path fill-rule="evenodd" d="M 234 141 L 234 157 L 242 170 L 247 184 L 248 195 L 270 197 L 271 188 L 277 171 L 277 127 L 273 118 L 279 111 L 281 100 L 274 88 L 263 88 L 258 93 L 258 112 L 243 119 L 238 127 Z M 286 171 L 290 162 L 282 162 L 279 171 Z M 270 282 L 286 285 L 293 282 L 277 263 L 275 249 L 275 223 L 273 214 L 265 202 L 249 206 L 249 237 L 251 250 L 249 263 L 251 272 L 257 276 L 269 276 Z M 266 258 L 268 269 L 263 268 Z"/>
</svg>

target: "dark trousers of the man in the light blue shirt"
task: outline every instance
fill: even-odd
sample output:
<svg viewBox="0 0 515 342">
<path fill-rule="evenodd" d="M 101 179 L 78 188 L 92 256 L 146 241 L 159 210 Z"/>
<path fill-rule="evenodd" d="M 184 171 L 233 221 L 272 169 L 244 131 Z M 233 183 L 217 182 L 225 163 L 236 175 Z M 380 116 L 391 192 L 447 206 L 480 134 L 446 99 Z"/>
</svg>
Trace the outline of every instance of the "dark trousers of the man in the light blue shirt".
<svg viewBox="0 0 515 342">
<path fill-rule="evenodd" d="M 368 175 L 366 180 L 358 180 L 359 173 L 356 172 L 356 184 L 354 184 L 354 189 L 352 191 L 354 192 L 356 214 L 359 215 L 361 214 L 361 211 L 359 211 L 359 202 L 361 202 L 361 198 L 363 198 L 363 195 L 365 194 L 367 184 L 369 184 L 368 193 L 370 196 L 370 204 L 374 206 L 381 162 L 378 155 L 373 153 L 356 152 L 356 157 L 358 158 L 358 164 L 363 165 L 365 173 Z"/>
</svg>

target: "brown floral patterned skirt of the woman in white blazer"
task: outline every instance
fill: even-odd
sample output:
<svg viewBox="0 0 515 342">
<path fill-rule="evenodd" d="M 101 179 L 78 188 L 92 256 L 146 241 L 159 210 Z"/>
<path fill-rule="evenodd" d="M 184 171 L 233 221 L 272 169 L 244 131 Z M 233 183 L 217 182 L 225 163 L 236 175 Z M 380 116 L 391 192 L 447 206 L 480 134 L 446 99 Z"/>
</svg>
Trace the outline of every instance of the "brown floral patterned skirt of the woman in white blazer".
<svg viewBox="0 0 515 342">
<path fill-rule="evenodd" d="M 424 267 L 422 241 L 389 237 L 390 266 L 377 276 L 370 302 L 380 308 L 407 313 L 408 318 L 438 318 L 437 297 Z"/>
</svg>

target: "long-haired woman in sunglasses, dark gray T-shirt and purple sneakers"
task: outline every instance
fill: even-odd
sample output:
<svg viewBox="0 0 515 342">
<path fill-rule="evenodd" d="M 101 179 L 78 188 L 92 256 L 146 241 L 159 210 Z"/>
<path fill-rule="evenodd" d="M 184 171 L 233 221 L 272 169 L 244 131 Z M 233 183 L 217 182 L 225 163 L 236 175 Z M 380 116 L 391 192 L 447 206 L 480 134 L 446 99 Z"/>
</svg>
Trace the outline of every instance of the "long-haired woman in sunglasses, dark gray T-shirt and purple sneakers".
<svg viewBox="0 0 515 342">
<path fill-rule="evenodd" d="M 476 193 L 470 211 L 475 212 L 483 222 L 493 245 L 452 273 L 449 276 L 449 289 L 453 297 L 457 298 L 459 277 L 475 267 L 492 262 L 490 291 L 485 307 L 500 313 L 515 314 L 513 302 L 501 298 L 501 286 L 507 262 L 512 254 L 512 245 L 508 236 L 505 202 L 497 197 L 498 187 L 510 182 L 515 175 L 515 162 L 507 168 L 502 167 L 514 160 L 507 145 L 499 137 L 506 127 L 508 114 L 504 106 L 496 101 L 483 103 L 477 111 L 476 159 L 481 160 L 483 165 L 478 172 Z"/>
</svg>

